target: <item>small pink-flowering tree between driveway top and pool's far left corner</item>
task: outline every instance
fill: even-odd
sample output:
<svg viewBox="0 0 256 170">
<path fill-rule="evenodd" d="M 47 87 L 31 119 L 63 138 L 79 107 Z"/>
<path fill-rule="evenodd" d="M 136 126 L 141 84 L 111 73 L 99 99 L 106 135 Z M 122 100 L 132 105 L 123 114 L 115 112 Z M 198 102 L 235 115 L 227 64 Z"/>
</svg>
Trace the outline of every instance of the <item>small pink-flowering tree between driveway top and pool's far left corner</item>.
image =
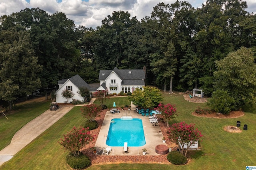
<svg viewBox="0 0 256 170">
<path fill-rule="evenodd" d="M 91 104 L 85 105 L 81 108 L 82 115 L 90 122 L 94 121 L 98 113 L 102 110 L 102 107 Z"/>
</svg>

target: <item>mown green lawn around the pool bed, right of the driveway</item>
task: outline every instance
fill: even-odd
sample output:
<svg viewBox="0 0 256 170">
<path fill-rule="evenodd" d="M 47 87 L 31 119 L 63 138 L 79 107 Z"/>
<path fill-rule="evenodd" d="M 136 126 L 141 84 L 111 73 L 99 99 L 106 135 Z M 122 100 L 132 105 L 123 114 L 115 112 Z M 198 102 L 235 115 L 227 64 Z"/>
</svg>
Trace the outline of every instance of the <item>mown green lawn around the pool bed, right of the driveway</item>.
<svg viewBox="0 0 256 170">
<path fill-rule="evenodd" d="M 163 103 L 175 104 L 178 117 L 172 123 L 185 121 L 187 124 L 194 123 L 204 135 L 200 145 L 203 151 L 193 151 L 191 161 L 187 165 L 174 166 L 164 164 L 104 164 L 92 165 L 88 170 L 99 169 L 214 169 L 214 170 L 240 170 L 246 166 L 254 166 L 256 157 L 256 111 L 253 107 L 245 107 L 248 112 L 243 117 L 234 119 L 214 119 L 194 117 L 191 112 L 198 106 L 205 107 L 206 103 L 190 103 L 184 100 L 182 95 L 163 95 Z M 124 97 L 125 98 L 125 97 Z M 108 99 L 109 106 L 115 101 L 119 103 L 120 98 Z M 114 101 L 113 101 L 114 100 Z M 118 107 L 118 106 L 117 106 Z M 48 107 L 46 108 L 48 109 Z M 249 112 L 250 111 L 250 112 Z M 25 115 L 24 115 L 25 116 Z M 2 119 L 1 119 L 2 121 Z M 84 124 L 84 118 L 80 114 L 80 107 L 74 107 L 60 121 L 52 125 L 43 134 L 38 136 L 28 146 L 22 149 L 10 161 L 3 164 L 0 169 L 69 169 L 65 163 L 65 156 L 68 154 L 60 148 L 57 143 L 59 139 L 73 126 Z M 248 130 L 242 133 L 229 133 L 223 130 L 226 125 L 236 126 L 236 121 L 248 125 Z M 2 139 L 1 139 L 2 140 Z"/>
</svg>

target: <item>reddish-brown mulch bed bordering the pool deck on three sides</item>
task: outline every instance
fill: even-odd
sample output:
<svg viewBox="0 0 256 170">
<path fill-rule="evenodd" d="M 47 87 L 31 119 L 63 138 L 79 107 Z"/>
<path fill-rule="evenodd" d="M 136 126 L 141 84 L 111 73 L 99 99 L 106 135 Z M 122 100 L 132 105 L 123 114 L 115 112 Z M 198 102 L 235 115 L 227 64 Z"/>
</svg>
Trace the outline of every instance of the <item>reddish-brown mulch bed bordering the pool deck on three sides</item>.
<svg viewBox="0 0 256 170">
<path fill-rule="evenodd" d="M 118 108 L 121 110 L 121 108 Z M 98 122 L 99 127 L 90 130 L 91 134 L 95 135 L 95 139 L 90 142 L 90 144 L 86 145 L 86 147 L 82 150 L 82 152 L 88 156 L 92 162 L 92 164 L 101 164 L 101 163 L 162 163 L 162 164 L 170 164 L 170 162 L 167 160 L 165 155 L 134 155 L 134 156 L 112 156 L 112 155 L 97 155 L 92 152 L 90 148 L 95 146 L 98 134 L 100 132 L 100 128 L 102 126 L 104 117 L 106 115 L 106 112 L 108 109 L 105 109 L 101 111 L 100 116 L 96 117 L 96 121 Z M 161 129 L 161 132 L 163 136 L 166 137 L 166 144 L 170 148 L 175 148 L 176 144 L 172 143 L 167 137 L 167 131 L 168 128 L 166 124 L 164 124 L 162 121 L 159 122 L 159 127 Z"/>
</svg>

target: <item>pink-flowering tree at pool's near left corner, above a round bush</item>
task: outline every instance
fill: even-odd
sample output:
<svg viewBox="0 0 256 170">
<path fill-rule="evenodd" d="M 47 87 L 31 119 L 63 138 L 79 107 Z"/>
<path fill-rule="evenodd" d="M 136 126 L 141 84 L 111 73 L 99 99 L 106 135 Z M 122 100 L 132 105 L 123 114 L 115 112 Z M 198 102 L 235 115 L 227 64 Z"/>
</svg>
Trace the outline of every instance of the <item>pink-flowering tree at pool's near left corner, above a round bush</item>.
<svg viewBox="0 0 256 170">
<path fill-rule="evenodd" d="M 78 156 L 82 148 L 94 139 L 88 128 L 77 129 L 73 127 L 71 131 L 63 136 L 64 139 L 61 138 L 58 143 L 64 146 L 65 150 L 72 152 L 74 156 Z"/>
</svg>

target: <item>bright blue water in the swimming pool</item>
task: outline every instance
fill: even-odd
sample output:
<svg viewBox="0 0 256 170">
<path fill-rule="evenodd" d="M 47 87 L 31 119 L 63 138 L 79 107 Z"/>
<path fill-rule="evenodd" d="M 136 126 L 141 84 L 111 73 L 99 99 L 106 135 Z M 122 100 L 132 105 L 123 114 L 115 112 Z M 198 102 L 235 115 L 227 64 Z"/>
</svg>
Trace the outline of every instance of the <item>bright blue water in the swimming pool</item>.
<svg viewBox="0 0 256 170">
<path fill-rule="evenodd" d="M 146 144 L 142 120 L 134 118 L 132 120 L 112 119 L 108 130 L 106 144 L 108 146 L 143 146 Z"/>
</svg>

